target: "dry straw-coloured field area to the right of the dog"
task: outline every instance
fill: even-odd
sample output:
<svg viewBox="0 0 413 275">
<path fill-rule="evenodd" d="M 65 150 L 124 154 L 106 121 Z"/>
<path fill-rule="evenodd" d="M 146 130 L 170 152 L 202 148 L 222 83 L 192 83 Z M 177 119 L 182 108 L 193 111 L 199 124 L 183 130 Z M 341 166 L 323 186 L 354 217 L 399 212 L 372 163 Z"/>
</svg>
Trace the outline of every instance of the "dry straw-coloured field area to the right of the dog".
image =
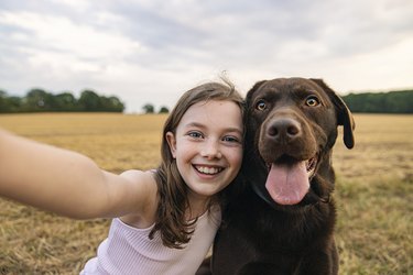
<svg viewBox="0 0 413 275">
<path fill-rule="evenodd" d="M 340 274 L 413 274 L 413 116 L 356 114 L 334 152 Z"/>
</svg>

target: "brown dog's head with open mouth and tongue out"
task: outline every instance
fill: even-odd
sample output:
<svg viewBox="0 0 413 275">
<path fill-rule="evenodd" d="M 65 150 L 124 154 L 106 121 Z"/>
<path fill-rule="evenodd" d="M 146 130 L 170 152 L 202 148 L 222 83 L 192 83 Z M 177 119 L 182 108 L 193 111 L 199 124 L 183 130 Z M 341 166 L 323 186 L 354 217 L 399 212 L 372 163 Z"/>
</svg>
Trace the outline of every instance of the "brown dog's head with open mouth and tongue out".
<svg viewBox="0 0 413 275">
<path fill-rule="evenodd" d="M 247 95 L 243 174 L 274 207 L 329 198 L 337 127 L 354 146 L 354 119 L 344 101 L 320 79 L 280 78 L 257 82 Z M 285 208 L 285 207 L 282 207 Z"/>
</svg>

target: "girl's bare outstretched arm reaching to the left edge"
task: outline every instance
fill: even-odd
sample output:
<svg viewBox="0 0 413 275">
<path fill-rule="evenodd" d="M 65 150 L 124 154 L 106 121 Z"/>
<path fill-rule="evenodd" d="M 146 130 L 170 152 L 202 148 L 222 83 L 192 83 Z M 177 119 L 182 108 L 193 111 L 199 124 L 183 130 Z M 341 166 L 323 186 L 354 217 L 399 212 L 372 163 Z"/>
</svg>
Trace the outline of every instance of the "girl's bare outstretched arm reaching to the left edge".
<svg viewBox="0 0 413 275">
<path fill-rule="evenodd" d="M 0 196 L 75 219 L 140 215 L 153 205 L 151 173 L 115 175 L 90 158 L 0 129 Z"/>
</svg>

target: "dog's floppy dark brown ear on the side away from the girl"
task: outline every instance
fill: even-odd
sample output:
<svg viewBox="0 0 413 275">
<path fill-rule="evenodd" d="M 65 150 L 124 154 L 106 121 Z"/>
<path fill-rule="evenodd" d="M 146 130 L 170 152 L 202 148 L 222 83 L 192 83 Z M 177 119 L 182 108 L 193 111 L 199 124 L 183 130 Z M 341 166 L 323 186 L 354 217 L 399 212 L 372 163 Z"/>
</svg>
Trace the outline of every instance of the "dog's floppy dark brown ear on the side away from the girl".
<svg viewBox="0 0 413 275">
<path fill-rule="evenodd" d="M 337 124 L 343 125 L 344 128 L 344 143 L 348 148 L 352 148 L 355 146 L 355 138 L 352 135 L 352 131 L 356 128 L 355 120 L 352 118 L 352 114 L 346 103 L 343 101 L 343 99 L 337 96 L 337 94 L 332 90 L 324 81 L 323 79 L 311 79 L 314 82 L 316 82 L 319 87 L 322 87 L 330 100 L 333 101 L 336 111 L 337 111 Z"/>
</svg>

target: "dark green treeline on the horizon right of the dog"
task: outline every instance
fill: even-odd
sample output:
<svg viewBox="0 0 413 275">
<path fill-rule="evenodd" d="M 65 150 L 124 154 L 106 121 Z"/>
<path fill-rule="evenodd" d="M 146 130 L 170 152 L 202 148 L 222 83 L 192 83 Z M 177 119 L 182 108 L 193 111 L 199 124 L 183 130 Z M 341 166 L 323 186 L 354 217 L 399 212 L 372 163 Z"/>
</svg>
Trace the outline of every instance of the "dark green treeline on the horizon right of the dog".
<svg viewBox="0 0 413 275">
<path fill-rule="evenodd" d="M 349 94 L 343 100 L 351 112 L 413 113 L 413 90 Z"/>
</svg>

